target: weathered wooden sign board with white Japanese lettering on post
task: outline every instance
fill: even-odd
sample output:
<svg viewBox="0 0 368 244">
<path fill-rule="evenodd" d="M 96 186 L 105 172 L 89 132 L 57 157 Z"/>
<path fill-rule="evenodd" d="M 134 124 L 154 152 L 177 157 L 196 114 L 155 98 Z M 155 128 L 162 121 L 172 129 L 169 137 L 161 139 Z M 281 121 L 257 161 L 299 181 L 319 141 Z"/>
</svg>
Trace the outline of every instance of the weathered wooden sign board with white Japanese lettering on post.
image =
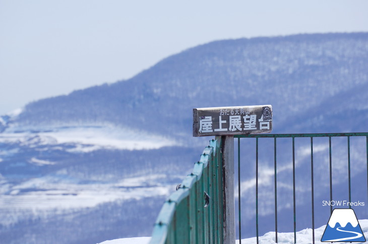
<svg viewBox="0 0 368 244">
<path fill-rule="evenodd" d="M 193 136 L 269 133 L 272 106 L 193 109 Z"/>
</svg>

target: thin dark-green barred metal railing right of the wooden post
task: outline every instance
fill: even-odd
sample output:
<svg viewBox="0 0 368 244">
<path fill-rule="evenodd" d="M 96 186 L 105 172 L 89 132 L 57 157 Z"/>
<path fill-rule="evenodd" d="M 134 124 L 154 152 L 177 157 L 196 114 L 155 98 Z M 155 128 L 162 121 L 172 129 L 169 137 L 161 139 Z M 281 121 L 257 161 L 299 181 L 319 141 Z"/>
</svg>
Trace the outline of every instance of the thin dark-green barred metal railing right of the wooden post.
<svg viewBox="0 0 368 244">
<path fill-rule="evenodd" d="M 347 152 L 347 156 L 346 156 L 346 164 L 347 164 L 347 181 L 348 181 L 348 189 L 347 189 L 347 194 L 346 196 L 348 196 L 348 200 L 349 202 L 352 202 L 352 198 L 351 198 L 351 147 L 350 147 L 350 138 L 351 137 L 363 137 L 364 142 L 365 142 L 365 146 L 364 147 L 360 147 L 363 148 L 363 150 L 360 151 L 364 151 L 363 154 L 366 156 L 366 169 L 362 168 L 360 170 L 365 171 L 366 170 L 366 179 L 364 179 L 365 177 L 363 177 L 363 179 L 359 180 L 359 188 L 361 187 L 366 187 L 367 191 L 368 191 L 368 133 L 327 133 L 327 134 L 249 134 L 249 135 L 236 135 L 234 136 L 235 138 L 237 138 L 237 161 L 238 161 L 238 235 L 239 235 L 239 240 L 241 243 L 241 164 L 240 164 L 240 154 L 242 152 L 242 149 L 240 148 L 240 138 L 255 138 L 255 162 L 253 161 L 253 159 L 251 160 L 251 164 L 247 167 L 247 171 L 249 171 L 250 167 L 252 167 L 253 164 L 255 164 L 255 214 L 256 214 L 256 236 L 257 236 L 257 243 L 259 243 L 259 164 L 260 164 L 260 153 L 259 153 L 259 139 L 260 138 L 271 138 L 271 140 L 273 139 L 273 141 L 271 141 L 271 145 L 273 145 L 273 149 L 272 148 L 268 148 L 268 152 L 269 154 L 271 154 L 271 156 L 268 157 L 268 161 L 272 161 L 273 164 L 273 171 L 274 171 L 274 179 L 273 179 L 273 188 L 274 188 L 274 211 L 275 211 L 275 242 L 278 242 L 278 193 L 277 193 L 277 184 L 278 184 L 278 180 L 277 180 L 277 175 L 278 175 L 278 160 L 279 160 L 279 156 L 277 154 L 277 150 L 278 150 L 278 145 L 279 145 L 279 138 L 290 138 L 291 139 L 291 148 L 289 149 L 291 152 L 291 160 L 292 160 L 292 216 L 293 216 L 293 232 L 294 232 L 294 243 L 296 243 L 296 224 L 297 224 L 297 216 L 296 216 L 296 208 L 297 208 L 297 204 L 296 204 L 296 193 L 295 193 L 295 171 L 296 171 L 296 167 L 295 167 L 295 162 L 296 162 L 296 155 L 295 155 L 295 138 L 310 138 L 310 142 L 309 142 L 309 149 L 307 150 L 307 154 L 310 154 L 310 169 L 309 172 L 304 172 L 304 174 L 310 174 L 310 182 L 307 183 L 305 182 L 305 187 L 310 187 L 311 189 L 311 195 L 310 195 L 310 201 L 311 201 L 311 215 L 312 215 L 312 221 L 311 221 L 311 227 L 313 230 L 313 239 L 312 242 L 315 243 L 315 193 L 316 193 L 316 188 L 315 188 L 315 167 L 316 167 L 316 160 L 315 160 L 315 153 L 314 153 L 314 149 L 316 149 L 317 147 L 314 146 L 314 142 L 317 140 L 317 137 L 326 137 L 328 138 L 328 142 L 325 141 L 324 143 L 327 143 L 328 145 L 326 145 L 325 148 L 326 151 L 328 149 L 328 161 L 329 161 L 329 172 L 326 172 L 326 177 L 329 178 L 329 190 L 327 190 L 327 192 L 329 191 L 329 201 L 330 203 L 334 200 L 333 199 L 333 166 L 334 166 L 334 162 L 332 160 L 332 152 L 333 152 L 333 147 L 332 147 L 332 138 L 333 137 L 345 137 L 346 141 L 343 143 L 346 143 L 346 152 Z M 365 138 L 364 138 L 365 137 Z M 262 139 L 263 140 L 263 139 Z M 270 140 L 270 139 L 268 139 Z M 304 139 L 305 140 L 305 139 Z M 327 139 L 326 139 L 327 140 Z M 305 143 L 305 141 L 304 141 Z M 319 141 L 319 143 L 321 143 Z M 321 147 L 319 147 L 321 148 Z M 341 146 L 338 148 L 338 150 L 341 150 Z M 251 151 L 253 151 L 253 147 L 251 149 Z M 286 150 L 282 150 L 283 153 L 285 153 Z M 365 154 L 364 154 L 365 153 Z M 305 154 L 305 153 L 304 153 Z M 247 157 L 250 157 L 249 154 L 247 154 Z M 273 158 L 272 158 L 273 157 Z M 345 157 L 344 157 L 345 158 Z M 248 159 L 247 159 L 248 160 Z M 365 159 L 363 159 L 365 160 Z M 265 160 L 263 160 L 265 161 Z M 364 183 L 365 182 L 365 183 Z M 365 185 L 365 186 L 364 186 Z M 318 189 L 321 190 L 321 189 Z M 325 189 L 326 190 L 326 189 Z M 368 196 L 368 192 L 366 192 L 366 196 L 364 196 L 364 200 L 366 200 L 366 197 Z M 365 193 L 364 193 L 365 195 Z M 247 195 L 247 198 L 250 198 L 251 196 Z M 360 196 L 361 197 L 361 196 Z M 335 198 L 336 200 L 336 198 Z M 350 205 L 351 208 L 351 205 Z M 328 210 L 332 213 L 333 210 L 333 206 L 331 205 L 330 208 L 328 208 Z M 329 213 L 329 214 L 331 214 Z M 325 222 L 324 224 L 326 224 L 327 222 Z"/>
</svg>

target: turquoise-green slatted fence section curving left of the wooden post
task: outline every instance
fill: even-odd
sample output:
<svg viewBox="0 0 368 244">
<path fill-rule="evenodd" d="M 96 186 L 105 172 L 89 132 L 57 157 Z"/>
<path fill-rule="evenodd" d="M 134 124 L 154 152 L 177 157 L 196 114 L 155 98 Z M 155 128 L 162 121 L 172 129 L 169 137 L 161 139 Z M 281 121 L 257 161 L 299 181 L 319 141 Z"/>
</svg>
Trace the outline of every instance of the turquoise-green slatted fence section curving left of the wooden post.
<svg viewBox="0 0 368 244">
<path fill-rule="evenodd" d="M 222 243 L 221 154 L 221 137 L 216 137 L 163 204 L 150 244 Z"/>
</svg>

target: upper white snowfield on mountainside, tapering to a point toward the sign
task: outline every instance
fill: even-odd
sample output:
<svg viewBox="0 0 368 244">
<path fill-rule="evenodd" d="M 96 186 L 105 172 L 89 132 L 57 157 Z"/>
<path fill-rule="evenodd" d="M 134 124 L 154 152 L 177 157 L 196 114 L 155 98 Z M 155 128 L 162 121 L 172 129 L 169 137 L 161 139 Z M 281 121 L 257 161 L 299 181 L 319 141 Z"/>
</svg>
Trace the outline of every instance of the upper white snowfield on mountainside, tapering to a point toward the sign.
<svg viewBox="0 0 368 244">
<path fill-rule="evenodd" d="M 68 149 L 70 152 L 90 152 L 101 148 L 142 150 L 178 145 L 173 139 L 160 135 L 106 125 L 51 127 L 42 130 L 29 128 L 22 131 L 8 128 L 0 133 L 0 142 L 21 142 L 30 146 L 32 143 L 68 143 L 74 145 L 74 148 Z"/>
</svg>

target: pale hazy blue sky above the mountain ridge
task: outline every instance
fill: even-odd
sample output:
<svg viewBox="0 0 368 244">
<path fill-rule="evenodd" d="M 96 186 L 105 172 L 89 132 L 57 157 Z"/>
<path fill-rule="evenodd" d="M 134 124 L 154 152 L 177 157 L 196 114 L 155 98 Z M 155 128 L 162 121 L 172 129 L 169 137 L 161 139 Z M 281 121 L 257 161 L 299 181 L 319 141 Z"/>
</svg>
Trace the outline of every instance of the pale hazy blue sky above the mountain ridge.
<svg viewBox="0 0 368 244">
<path fill-rule="evenodd" d="M 367 0 L 0 0 L 0 115 L 214 40 L 368 31 Z"/>
</svg>

